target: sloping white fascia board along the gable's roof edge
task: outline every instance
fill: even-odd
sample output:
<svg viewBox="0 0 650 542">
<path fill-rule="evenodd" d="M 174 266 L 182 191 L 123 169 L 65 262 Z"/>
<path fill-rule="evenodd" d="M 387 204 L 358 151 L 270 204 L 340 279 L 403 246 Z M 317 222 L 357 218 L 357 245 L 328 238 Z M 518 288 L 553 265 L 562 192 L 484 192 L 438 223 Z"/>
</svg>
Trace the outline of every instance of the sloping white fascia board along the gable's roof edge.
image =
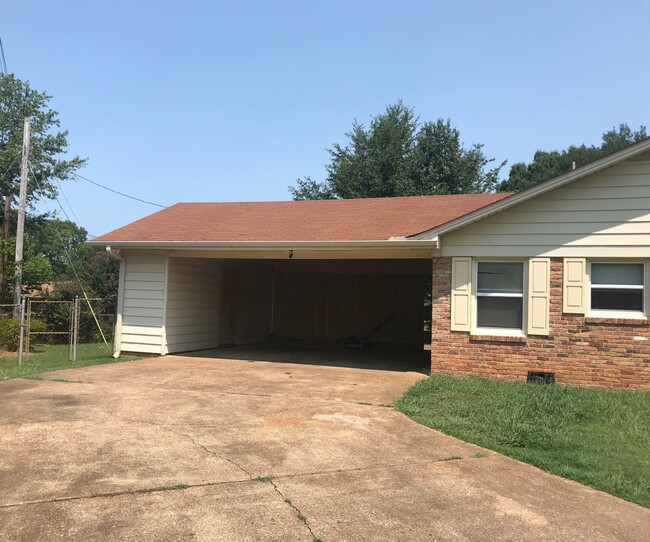
<svg viewBox="0 0 650 542">
<path fill-rule="evenodd" d="M 556 188 L 565 186 L 569 183 L 572 183 L 573 181 L 586 177 L 587 175 L 598 173 L 603 169 L 607 169 L 608 167 L 618 164 L 619 162 L 623 162 L 624 160 L 632 158 L 637 154 L 641 154 L 647 150 L 650 150 L 650 137 L 644 139 L 643 141 L 639 141 L 634 145 L 625 147 L 620 151 L 600 158 L 599 160 L 595 160 L 589 164 L 579 167 L 578 169 L 574 169 L 573 171 L 569 171 L 553 179 L 549 179 L 548 181 L 533 186 L 532 188 L 524 190 L 523 192 L 513 194 L 508 198 L 504 198 L 490 205 L 486 205 L 485 207 L 482 207 L 476 211 L 461 216 L 455 220 L 451 220 L 446 224 L 437 226 L 436 228 L 432 228 L 422 233 L 418 233 L 417 235 L 413 235 L 409 237 L 409 239 L 425 240 L 438 238 L 440 235 L 449 233 L 453 230 L 457 230 L 458 228 L 467 226 L 472 222 L 476 222 L 500 211 L 504 211 L 505 209 L 533 199 L 537 196 L 545 194 L 546 192 L 550 192 L 551 190 L 555 190 Z"/>
</svg>

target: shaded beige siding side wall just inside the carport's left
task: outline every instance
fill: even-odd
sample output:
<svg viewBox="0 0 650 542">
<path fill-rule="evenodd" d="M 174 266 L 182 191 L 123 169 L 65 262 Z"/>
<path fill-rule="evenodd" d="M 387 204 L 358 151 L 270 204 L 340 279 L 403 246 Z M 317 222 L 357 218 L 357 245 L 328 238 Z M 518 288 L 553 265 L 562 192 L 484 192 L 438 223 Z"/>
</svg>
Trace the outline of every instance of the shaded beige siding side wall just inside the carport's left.
<svg viewBox="0 0 650 542">
<path fill-rule="evenodd" d="M 169 258 L 165 320 L 169 353 L 219 345 L 220 280 L 215 260 Z"/>
</svg>

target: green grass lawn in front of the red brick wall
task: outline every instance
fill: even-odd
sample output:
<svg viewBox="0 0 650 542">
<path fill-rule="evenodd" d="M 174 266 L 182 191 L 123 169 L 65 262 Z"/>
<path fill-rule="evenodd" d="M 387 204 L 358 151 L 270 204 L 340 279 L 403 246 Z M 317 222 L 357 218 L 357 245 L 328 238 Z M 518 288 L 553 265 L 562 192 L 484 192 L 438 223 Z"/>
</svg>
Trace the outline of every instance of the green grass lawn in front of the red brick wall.
<svg viewBox="0 0 650 542">
<path fill-rule="evenodd" d="M 448 435 L 650 507 L 650 392 L 433 375 L 395 407 Z"/>
</svg>

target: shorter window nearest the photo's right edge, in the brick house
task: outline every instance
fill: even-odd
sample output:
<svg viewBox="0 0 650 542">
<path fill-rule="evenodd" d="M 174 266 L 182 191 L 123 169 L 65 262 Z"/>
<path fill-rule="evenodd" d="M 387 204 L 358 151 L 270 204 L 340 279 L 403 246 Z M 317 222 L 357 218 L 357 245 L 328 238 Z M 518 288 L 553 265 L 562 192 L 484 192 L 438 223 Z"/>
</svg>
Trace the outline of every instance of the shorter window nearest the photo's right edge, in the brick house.
<svg viewBox="0 0 650 542">
<path fill-rule="evenodd" d="M 592 263 L 591 310 L 643 312 L 642 263 Z"/>
</svg>

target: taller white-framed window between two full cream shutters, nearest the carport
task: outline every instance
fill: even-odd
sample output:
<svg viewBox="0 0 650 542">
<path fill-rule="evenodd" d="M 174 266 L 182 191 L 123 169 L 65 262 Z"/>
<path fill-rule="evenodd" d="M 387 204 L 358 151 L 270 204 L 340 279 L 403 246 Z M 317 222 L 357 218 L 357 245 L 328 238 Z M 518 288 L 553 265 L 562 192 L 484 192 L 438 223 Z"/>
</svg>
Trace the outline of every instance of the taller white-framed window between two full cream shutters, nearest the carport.
<svg viewBox="0 0 650 542">
<path fill-rule="evenodd" d="M 478 262 L 476 325 L 523 329 L 523 262 Z"/>
</svg>

